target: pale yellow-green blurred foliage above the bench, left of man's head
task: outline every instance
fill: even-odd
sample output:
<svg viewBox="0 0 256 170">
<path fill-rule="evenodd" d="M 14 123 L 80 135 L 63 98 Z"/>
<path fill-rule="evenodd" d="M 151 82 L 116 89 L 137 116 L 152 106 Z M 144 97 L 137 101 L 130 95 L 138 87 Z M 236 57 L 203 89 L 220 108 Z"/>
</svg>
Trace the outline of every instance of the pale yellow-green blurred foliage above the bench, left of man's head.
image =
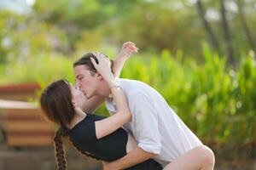
<svg viewBox="0 0 256 170">
<path fill-rule="evenodd" d="M 51 82 L 66 78 L 73 82 L 72 60 L 57 54 L 38 54 L 26 60 L 11 60 L 1 68 L 0 83 Z"/>
</svg>

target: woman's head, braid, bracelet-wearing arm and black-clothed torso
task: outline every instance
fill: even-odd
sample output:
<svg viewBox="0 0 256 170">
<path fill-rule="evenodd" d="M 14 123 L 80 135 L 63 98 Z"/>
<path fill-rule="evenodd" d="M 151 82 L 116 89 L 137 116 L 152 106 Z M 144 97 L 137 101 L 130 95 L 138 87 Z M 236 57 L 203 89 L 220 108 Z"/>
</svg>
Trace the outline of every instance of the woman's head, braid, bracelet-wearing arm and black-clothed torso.
<svg viewBox="0 0 256 170">
<path fill-rule="evenodd" d="M 41 95 L 40 105 L 45 116 L 60 128 L 55 133 L 55 156 L 58 169 L 67 169 L 63 151 L 62 136 L 67 136 L 73 145 L 86 156 L 102 161 L 114 161 L 137 146 L 135 139 L 121 127 L 131 120 L 127 101 L 110 69 L 110 61 L 103 55 L 96 55 L 94 66 L 101 77 L 108 82 L 117 113 L 108 118 L 84 113 L 86 96 L 65 80 L 51 83 Z M 162 169 L 153 160 L 127 169 Z"/>
</svg>

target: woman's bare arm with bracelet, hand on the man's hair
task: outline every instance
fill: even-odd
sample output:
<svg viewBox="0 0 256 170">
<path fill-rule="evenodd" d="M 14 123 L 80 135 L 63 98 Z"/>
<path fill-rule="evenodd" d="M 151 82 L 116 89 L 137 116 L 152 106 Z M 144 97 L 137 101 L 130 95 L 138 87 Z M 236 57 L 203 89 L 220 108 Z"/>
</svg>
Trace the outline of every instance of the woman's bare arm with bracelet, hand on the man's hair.
<svg viewBox="0 0 256 170">
<path fill-rule="evenodd" d="M 109 59 L 103 54 L 95 55 L 98 59 L 98 64 L 96 64 L 96 61 L 93 58 L 91 58 L 91 62 L 96 67 L 98 73 L 101 74 L 104 80 L 108 83 L 117 110 L 115 115 L 96 122 L 96 138 L 101 139 L 102 137 L 113 133 L 119 127 L 122 127 L 126 122 L 131 121 L 131 112 L 125 94 L 121 88 L 119 88 L 118 82 L 116 82 L 113 77 Z"/>
</svg>

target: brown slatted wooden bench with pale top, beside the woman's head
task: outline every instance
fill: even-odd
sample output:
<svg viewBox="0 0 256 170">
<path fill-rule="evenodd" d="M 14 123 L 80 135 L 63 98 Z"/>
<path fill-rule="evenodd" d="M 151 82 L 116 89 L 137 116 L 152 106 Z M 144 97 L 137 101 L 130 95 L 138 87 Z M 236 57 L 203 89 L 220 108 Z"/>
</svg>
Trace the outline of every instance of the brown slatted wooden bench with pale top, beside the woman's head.
<svg viewBox="0 0 256 170">
<path fill-rule="evenodd" d="M 40 116 L 37 107 L 0 99 L 0 121 L 9 146 L 52 145 L 53 128 Z"/>
</svg>

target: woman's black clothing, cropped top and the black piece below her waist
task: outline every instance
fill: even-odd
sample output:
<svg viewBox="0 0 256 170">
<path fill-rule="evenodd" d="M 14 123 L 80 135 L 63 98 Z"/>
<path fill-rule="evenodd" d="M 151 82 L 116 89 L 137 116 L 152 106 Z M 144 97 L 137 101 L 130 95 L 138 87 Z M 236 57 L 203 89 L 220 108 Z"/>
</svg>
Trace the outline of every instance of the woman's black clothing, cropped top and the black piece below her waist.
<svg viewBox="0 0 256 170">
<path fill-rule="evenodd" d="M 104 118 L 106 117 L 87 114 L 84 120 L 71 129 L 70 139 L 80 150 L 83 150 L 98 159 L 103 161 L 118 160 L 126 155 L 128 133 L 123 128 L 119 128 L 102 139 L 96 139 L 95 122 Z M 150 159 L 127 169 L 153 170 L 162 168 L 159 163 Z"/>
</svg>

